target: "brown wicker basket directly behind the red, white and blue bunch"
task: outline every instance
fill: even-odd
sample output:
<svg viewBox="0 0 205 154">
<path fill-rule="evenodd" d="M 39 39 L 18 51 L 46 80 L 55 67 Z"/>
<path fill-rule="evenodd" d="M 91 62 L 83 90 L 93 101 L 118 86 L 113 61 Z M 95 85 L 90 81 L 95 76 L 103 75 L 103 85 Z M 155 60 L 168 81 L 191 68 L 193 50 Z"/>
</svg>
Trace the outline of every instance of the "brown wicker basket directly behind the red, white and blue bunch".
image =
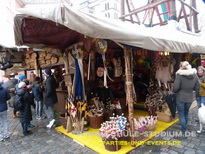
<svg viewBox="0 0 205 154">
<path fill-rule="evenodd" d="M 88 116 L 88 121 L 91 128 L 98 129 L 101 127 L 101 124 L 103 123 L 103 115 L 95 117 Z"/>
</svg>

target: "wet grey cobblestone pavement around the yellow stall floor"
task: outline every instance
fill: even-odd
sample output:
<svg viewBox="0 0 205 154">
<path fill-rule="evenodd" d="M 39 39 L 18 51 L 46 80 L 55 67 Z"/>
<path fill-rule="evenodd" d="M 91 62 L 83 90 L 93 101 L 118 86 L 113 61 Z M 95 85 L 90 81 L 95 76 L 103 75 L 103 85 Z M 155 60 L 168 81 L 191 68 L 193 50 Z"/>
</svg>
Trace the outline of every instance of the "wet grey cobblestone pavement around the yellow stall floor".
<svg viewBox="0 0 205 154">
<path fill-rule="evenodd" d="M 196 122 L 197 109 L 194 108 L 190 114 L 190 120 L 188 123 L 189 131 L 196 131 L 199 128 L 199 124 Z M 83 147 L 74 142 L 71 138 L 58 133 L 55 129 L 46 129 L 45 126 L 48 123 L 47 119 L 32 121 L 35 128 L 32 135 L 23 136 L 22 128 L 20 126 L 19 119 L 13 119 L 12 108 L 8 110 L 8 119 L 10 126 L 10 139 L 0 143 L 0 154 L 94 154 L 87 147 Z M 166 131 L 179 131 L 179 122 L 168 128 Z M 180 137 L 154 137 L 150 141 L 181 141 L 181 145 L 142 145 L 137 149 L 130 152 L 130 154 L 205 154 L 205 132 L 196 137 L 180 138 Z"/>
</svg>

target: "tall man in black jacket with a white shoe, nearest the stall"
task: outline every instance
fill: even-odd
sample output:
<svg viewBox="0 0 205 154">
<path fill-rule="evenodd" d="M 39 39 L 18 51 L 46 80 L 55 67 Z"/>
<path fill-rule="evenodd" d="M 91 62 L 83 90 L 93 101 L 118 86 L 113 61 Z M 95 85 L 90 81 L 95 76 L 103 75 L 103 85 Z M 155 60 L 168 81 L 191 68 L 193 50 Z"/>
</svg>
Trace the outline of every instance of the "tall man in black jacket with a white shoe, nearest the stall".
<svg viewBox="0 0 205 154">
<path fill-rule="evenodd" d="M 53 106 L 57 103 L 56 80 L 51 75 L 51 69 L 46 69 L 44 73 L 47 79 L 45 88 L 45 104 L 43 109 L 49 119 L 49 124 L 46 127 L 51 128 L 55 122 Z"/>
</svg>

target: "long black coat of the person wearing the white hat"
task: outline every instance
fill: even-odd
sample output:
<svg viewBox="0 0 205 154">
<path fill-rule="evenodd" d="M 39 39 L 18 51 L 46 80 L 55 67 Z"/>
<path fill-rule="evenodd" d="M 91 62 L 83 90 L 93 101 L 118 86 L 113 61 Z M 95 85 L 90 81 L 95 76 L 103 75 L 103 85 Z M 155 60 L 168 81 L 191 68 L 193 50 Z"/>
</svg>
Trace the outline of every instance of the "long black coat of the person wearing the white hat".
<svg viewBox="0 0 205 154">
<path fill-rule="evenodd" d="M 29 123 L 32 120 L 31 104 L 33 104 L 33 98 L 27 88 L 19 89 L 17 95 L 23 97 L 24 103 L 24 108 L 20 111 L 20 122 Z"/>
</svg>

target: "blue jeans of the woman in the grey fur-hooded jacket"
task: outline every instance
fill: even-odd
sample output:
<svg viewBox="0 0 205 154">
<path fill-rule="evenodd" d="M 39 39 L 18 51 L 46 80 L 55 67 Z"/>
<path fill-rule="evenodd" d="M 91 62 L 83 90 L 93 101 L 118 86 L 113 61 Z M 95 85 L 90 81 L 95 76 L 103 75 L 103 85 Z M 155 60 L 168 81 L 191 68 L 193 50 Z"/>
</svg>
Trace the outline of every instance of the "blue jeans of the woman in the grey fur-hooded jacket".
<svg viewBox="0 0 205 154">
<path fill-rule="evenodd" d="M 185 132 L 187 130 L 189 108 L 191 107 L 192 103 L 176 101 L 176 104 L 177 104 L 177 109 L 179 114 L 181 131 L 182 134 L 185 135 Z"/>
</svg>

